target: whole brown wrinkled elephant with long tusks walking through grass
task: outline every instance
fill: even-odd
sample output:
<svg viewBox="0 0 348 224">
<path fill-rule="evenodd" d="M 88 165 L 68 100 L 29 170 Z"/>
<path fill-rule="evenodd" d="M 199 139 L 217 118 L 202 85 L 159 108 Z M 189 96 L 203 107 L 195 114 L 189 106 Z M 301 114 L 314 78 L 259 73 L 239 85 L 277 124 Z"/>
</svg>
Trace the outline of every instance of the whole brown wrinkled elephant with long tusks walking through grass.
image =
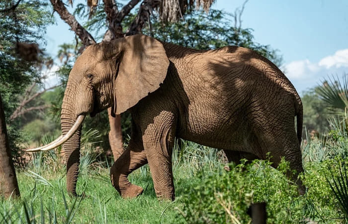
<svg viewBox="0 0 348 224">
<path fill-rule="evenodd" d="M 257 52 L 226 46 L 196 50 L 138 34 L 88 46 L 77 58 L 65 90 L 63 135 L 32 151 L 63 144 L 67 191 L 76 193 L 81 124 L 87 114 L 111 108 L 132 116 L 129 144 L 110 170 L 123 198 L 140 195 L 128 175 L 149 164 L 155 192 L 174 200 L 174 137 L 225 151 L 229 162 L 289 162 L 300 194 L 305 186 L 301 136 L 303 106 L 294 86 Z M 297 130 L 295 128 L 295 116 Z"/>
</svg>

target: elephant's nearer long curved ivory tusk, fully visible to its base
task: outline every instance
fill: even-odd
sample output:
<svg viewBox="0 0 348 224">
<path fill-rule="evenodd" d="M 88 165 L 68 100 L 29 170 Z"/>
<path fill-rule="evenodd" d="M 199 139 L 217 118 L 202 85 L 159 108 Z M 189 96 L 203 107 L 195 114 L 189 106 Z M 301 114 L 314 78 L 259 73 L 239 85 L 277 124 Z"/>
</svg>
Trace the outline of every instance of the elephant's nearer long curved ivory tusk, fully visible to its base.
<svg viewBox="0 0 348 224">
<path fill-rule="evenodd" d="M 85 115 L 79 115 L 78 118 L 76 119 L 74 125 L 70 128 L 70 130 L 65 135 L 59 136 L 56 140 L 52 141 L 51 143 L 49 143 L 47 145 L 44 145 L 44 146 L 41 146 L 38 148 L 27 149 L 25 151 L 38 152 L 38 151 L 48 151 L 48 150 L 57 148 L 58 146 L 60 146 L 64 142 L 66 142 L 69 138 L 71 138 L 71 136 L 73 136 L 73 134 L 75 134 L 75 132 L 79 129 L 79 127 L 81 126 L 84 119 L 85 119 Z"/>
</svg>

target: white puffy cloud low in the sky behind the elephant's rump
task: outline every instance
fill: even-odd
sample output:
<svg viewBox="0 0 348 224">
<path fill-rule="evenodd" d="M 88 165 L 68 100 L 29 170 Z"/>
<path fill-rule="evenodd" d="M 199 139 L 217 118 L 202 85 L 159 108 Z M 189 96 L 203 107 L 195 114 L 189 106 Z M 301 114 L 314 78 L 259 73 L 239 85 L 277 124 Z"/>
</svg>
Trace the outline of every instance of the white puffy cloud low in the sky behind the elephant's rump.
<svg viewBox="0 0 348 224">
<path fill-rule="evenodd" d="M 342 76 L 348 74 L 348 49 L 335 52 L 318 63 L 308 59 L 292 61 L 284 66 L 285 75 L 294 84 L 295 88 L 302 92 L 310 87 L 318 85 L 321 81 L 331 75 Z"/>
</svg>

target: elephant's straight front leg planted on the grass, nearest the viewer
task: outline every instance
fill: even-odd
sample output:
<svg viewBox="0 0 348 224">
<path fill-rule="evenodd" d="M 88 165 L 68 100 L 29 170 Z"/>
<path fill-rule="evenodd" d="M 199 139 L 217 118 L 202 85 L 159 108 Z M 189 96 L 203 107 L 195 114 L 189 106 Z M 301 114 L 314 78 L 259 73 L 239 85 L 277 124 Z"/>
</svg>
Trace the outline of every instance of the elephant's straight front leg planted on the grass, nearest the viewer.
<svg viewBox="0 0 348 224">
<path fill-rule="evenodd" d="M 167 115 L 159 115 L 154 123 L 148 125 L 143 143 L 157 197 L 174 200 L 172 153 L 175 119 Z"/>
</svg>

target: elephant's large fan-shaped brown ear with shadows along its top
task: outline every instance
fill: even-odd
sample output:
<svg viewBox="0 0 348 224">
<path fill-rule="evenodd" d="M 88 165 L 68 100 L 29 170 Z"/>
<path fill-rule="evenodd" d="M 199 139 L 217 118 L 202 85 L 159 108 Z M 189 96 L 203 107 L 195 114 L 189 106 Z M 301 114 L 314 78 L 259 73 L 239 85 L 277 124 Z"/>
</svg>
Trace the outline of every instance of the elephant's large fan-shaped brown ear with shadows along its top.
<svg viewBox="0 0 348 224">
<path fill-rule="evenodd" d="M 146 35 L 128 36 L 115 44 L 119 44 L 121 51 L 114 86 L 114 113 L 120 114 L 160 87 L 169 60 L 163 44 Z"/>
</svg>

